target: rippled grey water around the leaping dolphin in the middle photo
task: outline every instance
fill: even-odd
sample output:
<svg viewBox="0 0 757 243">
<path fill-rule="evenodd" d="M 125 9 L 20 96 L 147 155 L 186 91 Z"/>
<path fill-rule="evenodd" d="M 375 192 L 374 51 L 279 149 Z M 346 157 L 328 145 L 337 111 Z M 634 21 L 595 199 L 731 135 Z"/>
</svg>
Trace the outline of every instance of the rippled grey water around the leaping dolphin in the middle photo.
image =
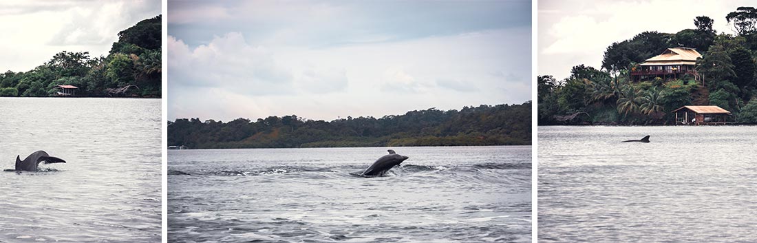
<svg viewBox="0 0 757 243">
<path fill-rule="evenodd" d="M 172 242 L 531 241 L 531 147 L 169 151 Z"/>
</svg>

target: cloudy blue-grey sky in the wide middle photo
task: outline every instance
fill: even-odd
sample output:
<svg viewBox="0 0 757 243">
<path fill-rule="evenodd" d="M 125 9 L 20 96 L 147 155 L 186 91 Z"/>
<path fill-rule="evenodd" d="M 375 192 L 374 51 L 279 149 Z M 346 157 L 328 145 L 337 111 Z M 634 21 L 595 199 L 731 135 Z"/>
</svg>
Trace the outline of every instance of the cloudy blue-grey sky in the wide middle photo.
<svg viewBox="0 0 757 243">
<path fill-rule="evenodd" d="M 168 119 L 531 100 L 530 1 L 168 1 Z"/>
</svg>

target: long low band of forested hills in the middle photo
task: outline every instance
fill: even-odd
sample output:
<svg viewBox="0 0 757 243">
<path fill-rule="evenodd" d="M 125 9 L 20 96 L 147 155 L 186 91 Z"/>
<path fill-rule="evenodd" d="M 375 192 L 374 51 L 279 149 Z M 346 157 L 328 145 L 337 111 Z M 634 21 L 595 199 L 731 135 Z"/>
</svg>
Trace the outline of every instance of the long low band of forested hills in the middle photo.
<svg viewBox="0 0 757 243">
<path fill-rule="evenodd" d="M 168 123 L 168 144 L 189 148 L 530 145 L 531 101 L 331 122 L 295 115 L 228 123 L 177 119 Z"/>
</svg>

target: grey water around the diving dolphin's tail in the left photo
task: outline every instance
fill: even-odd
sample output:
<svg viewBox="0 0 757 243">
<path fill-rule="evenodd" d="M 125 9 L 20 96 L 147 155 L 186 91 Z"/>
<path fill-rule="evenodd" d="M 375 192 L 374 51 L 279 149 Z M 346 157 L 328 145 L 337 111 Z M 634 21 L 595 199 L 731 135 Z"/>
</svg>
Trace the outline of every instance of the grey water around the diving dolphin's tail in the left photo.
<svg viewBox="0 0 757 243">
<path fill-rule="evenodd" d="M 0 242 L 159 242 L 160 99 L 0 98 Z"/>
</svg>

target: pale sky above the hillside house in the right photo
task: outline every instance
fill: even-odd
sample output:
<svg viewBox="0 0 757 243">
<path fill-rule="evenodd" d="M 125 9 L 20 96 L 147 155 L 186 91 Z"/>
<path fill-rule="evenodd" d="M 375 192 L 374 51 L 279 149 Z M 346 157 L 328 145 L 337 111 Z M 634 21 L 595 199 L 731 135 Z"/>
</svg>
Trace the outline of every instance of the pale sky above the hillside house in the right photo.
<svg viewBox="0 0 757 243">
<path fill-rule="evenodd" d="M 600 69 L 604 51 L 612 42 L 644 31 L 696 29 L 697 16 L 715 20 L 713 28 L 718 33 L 734 34 L 725 16 L 754 4 L 754 0 L 540 0 L 537 73 L 560 80 L 579 64 Z"/>
</svg>

